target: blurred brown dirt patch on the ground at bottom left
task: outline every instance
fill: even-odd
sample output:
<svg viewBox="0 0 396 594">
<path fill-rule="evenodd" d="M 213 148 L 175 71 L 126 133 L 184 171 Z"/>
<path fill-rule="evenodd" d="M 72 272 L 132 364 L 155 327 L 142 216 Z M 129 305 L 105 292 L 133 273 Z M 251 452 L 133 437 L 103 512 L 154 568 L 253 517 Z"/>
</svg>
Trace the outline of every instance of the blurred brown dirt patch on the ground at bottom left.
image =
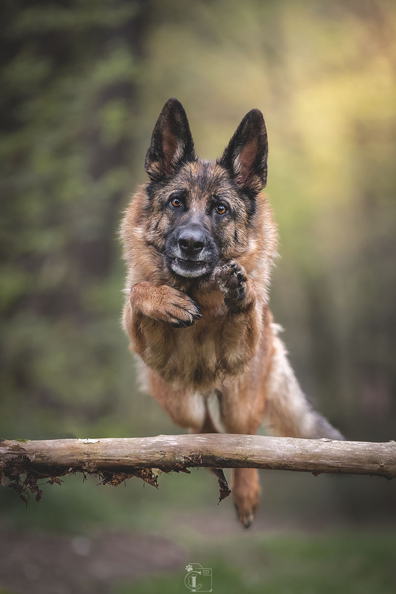
<svg viewBox="0 0 396 594">
<path fill-rule="evenodd" d="M 186 551 L 159 536 L 112 532 L 88 539 L 0 529 L 0 593 L 107 594 L 119 580 L 185 562 Z"/>
</svg>

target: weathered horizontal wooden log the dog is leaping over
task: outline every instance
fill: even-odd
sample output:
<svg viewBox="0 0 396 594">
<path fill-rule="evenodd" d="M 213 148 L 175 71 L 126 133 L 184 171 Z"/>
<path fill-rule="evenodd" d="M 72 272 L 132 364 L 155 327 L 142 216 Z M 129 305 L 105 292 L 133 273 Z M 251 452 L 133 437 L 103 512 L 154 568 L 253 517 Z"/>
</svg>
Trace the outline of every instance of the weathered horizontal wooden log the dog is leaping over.
<svg viewBox="0 0 396 594">
<path fill-rule="evenodd" d="M 68 469 L 128 473 L 133 469 L 211 466 L 376 475 L 391 479 L 396 476 L 396 442 L 229 434 L 0 441 L 0 470 L 17 460 L 21 467 L 50 476 Z"/>
</svg>

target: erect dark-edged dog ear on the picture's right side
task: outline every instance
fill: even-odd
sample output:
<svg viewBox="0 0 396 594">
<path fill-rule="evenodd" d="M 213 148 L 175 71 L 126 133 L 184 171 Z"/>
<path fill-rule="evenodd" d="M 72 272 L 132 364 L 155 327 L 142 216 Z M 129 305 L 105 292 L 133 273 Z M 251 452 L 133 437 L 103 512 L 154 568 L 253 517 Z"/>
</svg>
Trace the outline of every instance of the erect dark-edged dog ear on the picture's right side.
<svg viewBox="0 0 396 594">
<path fill-rule="evenodd" d="M 267 130 L 262 113 L 246 113 L 231 138 L 219 165 L 228 169 L 238 188 L 258 194 L 267 184 Z"/>
</svg>

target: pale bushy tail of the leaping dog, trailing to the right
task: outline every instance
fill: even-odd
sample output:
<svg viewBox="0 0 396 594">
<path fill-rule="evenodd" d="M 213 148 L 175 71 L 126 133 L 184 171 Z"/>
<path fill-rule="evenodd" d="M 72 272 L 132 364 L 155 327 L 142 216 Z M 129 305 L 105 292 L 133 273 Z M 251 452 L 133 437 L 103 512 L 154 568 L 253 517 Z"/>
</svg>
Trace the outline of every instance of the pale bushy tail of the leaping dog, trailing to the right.
<svg viewBox="0 0 396 594">
<path fill-rule="evenodd" d="M 287 359 L 283 342 L 278 337 L 279 331 L 280 327 L 273 324 L 273 356 L 264 412 L 271 432 L 284 437 L 343 440 L 340 431 L 319 415 L 306 399 Z"/>
</svg>

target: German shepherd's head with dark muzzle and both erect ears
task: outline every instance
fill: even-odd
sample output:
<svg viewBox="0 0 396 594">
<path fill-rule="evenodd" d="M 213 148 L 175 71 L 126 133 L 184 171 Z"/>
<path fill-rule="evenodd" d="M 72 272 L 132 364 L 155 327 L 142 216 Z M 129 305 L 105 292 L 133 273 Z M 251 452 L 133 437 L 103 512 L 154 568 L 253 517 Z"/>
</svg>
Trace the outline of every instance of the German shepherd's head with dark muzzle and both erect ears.
<svg viewBox="0 0 396 594">
<path fill-rule="evenodd" d="M 197 159 L 182 104 L 169 99 L 145 158 L 147 241 L 170 273 L 201 279 L 243 253 L 256 197 L 267 182 L 267 131 L 258 109 L 240 122 L 217 161 Z M 147 213 L 149 214 L 149 213 Z"/>
</svg>

